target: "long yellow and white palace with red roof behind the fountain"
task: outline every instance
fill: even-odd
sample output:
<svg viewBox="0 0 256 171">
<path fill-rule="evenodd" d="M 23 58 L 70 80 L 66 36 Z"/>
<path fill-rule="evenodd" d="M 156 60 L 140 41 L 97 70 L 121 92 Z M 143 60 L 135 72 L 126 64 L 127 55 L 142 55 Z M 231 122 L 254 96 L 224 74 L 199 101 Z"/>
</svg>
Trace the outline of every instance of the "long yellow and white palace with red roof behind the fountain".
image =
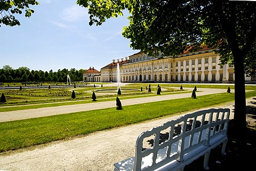
<svg viewBox="0 0 256 171">
<path fill-rule="evenodd" d="M 159 56 L 160 57 L 160 56 Z M 101 82 L 117 81 L 117 63 L 121 82 L 157 83 L 234 83 L 234 66 L 220 65 L 220 56 L 206 46 L 201 51 L 178 56 L 155 58 L 143 52 L 113 60 L 101 68 Z M 245 83 L 255 83 L 255 77 L 245 77 Z"/>
</svg>

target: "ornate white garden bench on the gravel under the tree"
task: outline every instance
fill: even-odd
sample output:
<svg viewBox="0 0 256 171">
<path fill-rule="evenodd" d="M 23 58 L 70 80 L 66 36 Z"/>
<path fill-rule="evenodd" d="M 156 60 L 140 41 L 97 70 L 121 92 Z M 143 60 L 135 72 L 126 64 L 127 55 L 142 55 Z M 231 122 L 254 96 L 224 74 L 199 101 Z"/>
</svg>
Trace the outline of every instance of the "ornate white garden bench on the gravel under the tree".
<svg viewBox="0 0 256 171">
<path fill-rule="evenodd" d="M 139 135 L 135 157 L 116 162 L 114 170 L 183 170 L 222 143 L 225 154 L 230 109 L 208 109 L 184 115 Z"/>
</svg>

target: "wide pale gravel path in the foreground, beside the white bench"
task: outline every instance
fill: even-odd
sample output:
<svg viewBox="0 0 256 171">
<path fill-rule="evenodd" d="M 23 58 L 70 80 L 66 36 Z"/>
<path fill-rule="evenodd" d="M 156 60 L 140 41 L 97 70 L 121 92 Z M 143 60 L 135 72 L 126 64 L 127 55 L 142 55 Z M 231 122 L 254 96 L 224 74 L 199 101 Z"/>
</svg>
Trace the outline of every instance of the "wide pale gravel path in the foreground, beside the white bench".
<svg viewBox="0 0 256 171">
<path fill-rule="evenodd" d="M 255 97 L 246 101 L 249 105 L 256 104 Z M 218 108 L 230 108 L 233 111 L 234 102 L 218 105 Z M 62 110 L 67 111 L 66 107 L 62 107 Z M 231 112 L 230 119 L 233 115 Z M 115 162 L 134 156 L 135 141 L 140 133 L 179 116 L 162 117 L 70 140 L 1 153 L 0 170 L 113 170 Z"/>
</svg>

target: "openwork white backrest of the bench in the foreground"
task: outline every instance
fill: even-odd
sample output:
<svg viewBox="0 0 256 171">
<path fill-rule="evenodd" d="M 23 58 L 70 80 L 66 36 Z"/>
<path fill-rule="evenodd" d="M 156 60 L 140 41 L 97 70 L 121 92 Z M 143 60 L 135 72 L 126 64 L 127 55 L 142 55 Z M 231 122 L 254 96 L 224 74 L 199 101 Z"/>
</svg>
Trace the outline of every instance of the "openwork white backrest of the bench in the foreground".
<svg viewBox="0 0 256 171">
<path fill-rule="evenodd" d="M 189 113 L 141 133 L 136 142 L 133 170 L 154 170 L 184 154 L 209 146 L 210 140 L 227 135 L 230 109 L 207 109 Z"/>
</svg>

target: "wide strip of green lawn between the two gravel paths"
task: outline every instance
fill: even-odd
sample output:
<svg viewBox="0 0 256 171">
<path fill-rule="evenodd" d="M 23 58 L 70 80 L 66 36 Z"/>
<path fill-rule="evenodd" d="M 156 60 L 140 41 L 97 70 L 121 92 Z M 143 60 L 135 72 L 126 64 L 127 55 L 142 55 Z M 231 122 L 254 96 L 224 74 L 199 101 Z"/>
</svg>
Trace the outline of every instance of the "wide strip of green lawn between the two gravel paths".
<svg viewBox="0 0 256 171">
<path fill-rule="evenodd" d="M 256 91 L 246 93 L 247 97 L 255 95 Z M 209 107 L 233 100 L 234 93 L 220 93 L 199 96 L 197 99 L 188 97 L 178 100 L 129 105 L 123 107 L 123 110 L 108 108 L 8 121 L 0 123 L 0 152 L 135 124 L 153 118 L 171 116 L 179 112 Z"/>
</svg>

